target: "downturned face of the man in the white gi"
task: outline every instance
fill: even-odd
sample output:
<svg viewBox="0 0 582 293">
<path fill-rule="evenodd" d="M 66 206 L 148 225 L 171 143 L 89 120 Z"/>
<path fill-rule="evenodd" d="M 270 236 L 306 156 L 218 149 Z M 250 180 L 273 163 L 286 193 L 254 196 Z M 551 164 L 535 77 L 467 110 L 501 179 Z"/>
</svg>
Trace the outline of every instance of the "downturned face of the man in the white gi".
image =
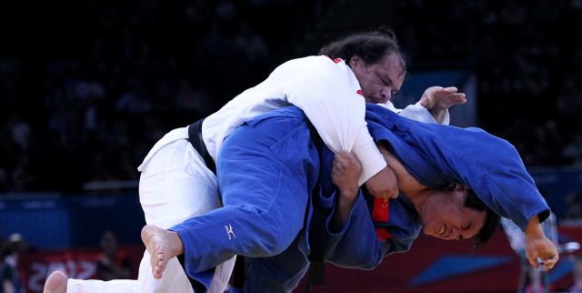
<svg viewBox="0 0 582 293">
<path fill-rule="evenodd" d="M 404 68 L 396 54 L 388 54 L 375 64 L 353 56 L 349 64 L 368 103 L 386 103 L 404 82 Z"/>
</svg>

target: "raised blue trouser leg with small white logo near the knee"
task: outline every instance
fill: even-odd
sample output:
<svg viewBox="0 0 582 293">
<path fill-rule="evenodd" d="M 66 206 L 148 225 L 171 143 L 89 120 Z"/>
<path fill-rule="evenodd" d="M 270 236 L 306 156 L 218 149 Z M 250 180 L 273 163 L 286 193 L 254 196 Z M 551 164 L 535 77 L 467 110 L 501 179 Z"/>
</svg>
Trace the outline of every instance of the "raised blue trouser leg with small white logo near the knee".
<svg viewBox="0 0 582 293">
<path fill-rule="evenodd" d="M 288 120 L 237 128 L 217 166 L 225 207 L 170 229 L 182 239 L 191 277 L 235 254 L 275 256 L 303 228 L 319 162 L 304 122 Z"/>
</svg>

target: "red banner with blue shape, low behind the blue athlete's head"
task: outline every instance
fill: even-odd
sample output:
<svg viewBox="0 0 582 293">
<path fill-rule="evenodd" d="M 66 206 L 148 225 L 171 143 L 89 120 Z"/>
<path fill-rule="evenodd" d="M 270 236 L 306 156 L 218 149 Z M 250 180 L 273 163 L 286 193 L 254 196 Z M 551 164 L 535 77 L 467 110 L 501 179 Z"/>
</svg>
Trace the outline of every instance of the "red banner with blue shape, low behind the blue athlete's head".
<svg viewBox="0 0 582 293">
<path fill-rule="evenodd" d="M 560 227 L 566 241 L 582 243 L 582 227 Z M 582 257 L 578 250 L 574 255 Z M 572 284 L 572 258 L 560 256 L 550 271 L 552 291 Z M 509 247 L 502 229 L 490 242 L 473 249 L 470 240 L 444 241 L 419 237 L 410 251 L 384 258 L 371 271 L 326 265 L 326 286 L 311 292 L 361 293 L 507 293 L 516 292 L 520 258 Z M 294 292 L 303 292 L 305 278 Z"/>
</svg>

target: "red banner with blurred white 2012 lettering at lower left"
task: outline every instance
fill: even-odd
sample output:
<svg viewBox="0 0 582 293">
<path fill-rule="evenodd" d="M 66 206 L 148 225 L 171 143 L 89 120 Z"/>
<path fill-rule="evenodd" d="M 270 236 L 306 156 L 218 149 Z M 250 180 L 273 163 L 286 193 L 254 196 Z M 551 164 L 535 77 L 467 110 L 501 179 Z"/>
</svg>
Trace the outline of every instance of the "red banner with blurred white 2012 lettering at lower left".
<svg viewBox="0 0 582 293">
<path fill-rule="evenodd" d="M 143 246 L 122 247 L 131 260 L 136 278 L 139 262 L 144 255 Z M 38 251 L 23 256 L 18 262 L 23 287 L 28 293 L 43 292 L 45 280 L 53 271 L 61 270 L 69 278 L 97 278 L 97 260 L 101 249 L 63 249 Z"/>
</svg>

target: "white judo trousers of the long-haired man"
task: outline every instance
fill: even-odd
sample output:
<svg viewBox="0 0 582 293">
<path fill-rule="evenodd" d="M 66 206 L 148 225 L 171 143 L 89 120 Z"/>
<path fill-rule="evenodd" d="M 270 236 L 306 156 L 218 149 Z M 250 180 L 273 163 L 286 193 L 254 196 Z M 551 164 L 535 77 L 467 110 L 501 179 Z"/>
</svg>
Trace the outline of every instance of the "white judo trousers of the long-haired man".
<svg viewBox="0 0 582 293">
<path fill-rule="evenodd" d="M 222 207 L 216 176 L 202 157 L 186 140 L 188 128 L 177 128 L 162 137 L 150 150 L 137 169 L 142 172 L 139 181 L 139 199 L 146 223 L 169 228 L 217 207 Z M 231 258 L 216 267 L 209 293 L 225 291 L 235 265 Z M 176 258 L 170 259 L 164 277 L 155 279 L 150 255 L 144 253 L 137 280 L 79 280 L 69 279 L 67 293 L 127 293 L 127 292 L 194 292 L 184 268 Z"/>
</svg>

